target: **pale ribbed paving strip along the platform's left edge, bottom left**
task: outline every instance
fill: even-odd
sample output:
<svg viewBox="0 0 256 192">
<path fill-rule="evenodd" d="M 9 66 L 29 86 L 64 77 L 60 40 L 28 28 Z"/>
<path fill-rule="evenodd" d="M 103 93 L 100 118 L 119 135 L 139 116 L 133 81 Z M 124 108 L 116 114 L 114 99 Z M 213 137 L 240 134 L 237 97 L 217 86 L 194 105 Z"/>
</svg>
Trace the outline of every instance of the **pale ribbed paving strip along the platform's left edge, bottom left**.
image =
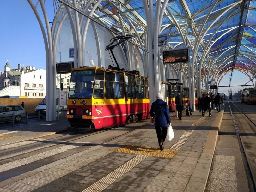
<svg viewBox="0 0 256 192">
<path fill-rule="evenodd" d="M 78 142 L 81 143 L 81 142 Z M 77 146 L 78 147 L 78 146 Z M 56 179 L 59 179 L 72 171 L 75 171 L 85 165 L 88 165 L 94 162 L 97 159 L 104 157 L 105 155 L 112 153 L 116 148 L 112 147 L 111 150 L 100 150 L 100 148 L 104 146 L 94 146 L 84 151 L 78 152 L 76 154 L 70 155 L 64 159 L 60 159 L 58 161 L 49 163 L 47 165 L 41 166 L 37 169 L 29 171 L 34 173 L 34 175 L 16 181 L 14 183 L 10 183 L 8 185 L 3 186 L 0 188 L 0 192 L 29 192 L 35 189 L 38 189 Z M 88 154 L 98 150 L 97 154 L 91 154 L 88 157 Z M 87 155 L 87 158 L 81 158 L 84 154 Z"/>
</svg>

